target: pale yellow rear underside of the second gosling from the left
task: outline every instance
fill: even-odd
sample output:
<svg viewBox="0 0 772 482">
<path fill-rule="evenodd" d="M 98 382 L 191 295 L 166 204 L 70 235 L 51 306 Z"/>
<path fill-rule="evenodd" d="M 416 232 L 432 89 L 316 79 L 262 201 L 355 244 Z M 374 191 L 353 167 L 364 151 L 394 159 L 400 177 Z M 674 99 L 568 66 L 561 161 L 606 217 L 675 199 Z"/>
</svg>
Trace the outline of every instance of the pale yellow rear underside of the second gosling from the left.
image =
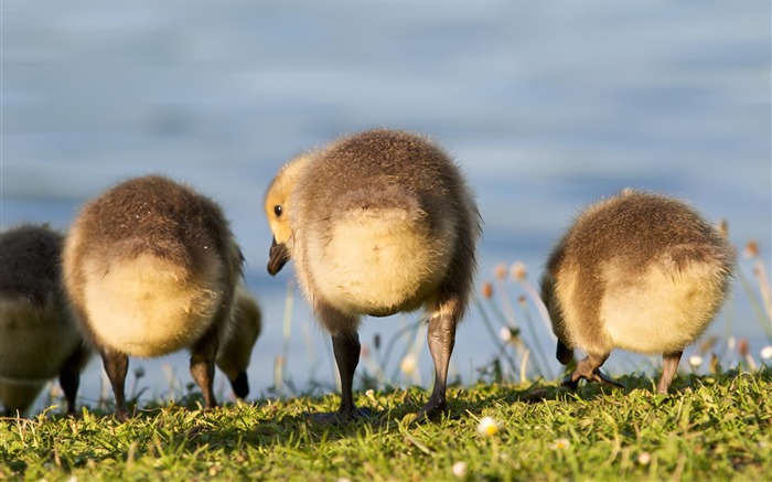
<svg viewBox="0 0 772 482">
<path fill-rule="evenodd" d="M 106 345 L 132 356 L 160 356 L 190 346 L 213 322 L 223 296 L 214 256 L 193 276 L 151 255 L 84 263 L 85 307 Z"/>
</svg>

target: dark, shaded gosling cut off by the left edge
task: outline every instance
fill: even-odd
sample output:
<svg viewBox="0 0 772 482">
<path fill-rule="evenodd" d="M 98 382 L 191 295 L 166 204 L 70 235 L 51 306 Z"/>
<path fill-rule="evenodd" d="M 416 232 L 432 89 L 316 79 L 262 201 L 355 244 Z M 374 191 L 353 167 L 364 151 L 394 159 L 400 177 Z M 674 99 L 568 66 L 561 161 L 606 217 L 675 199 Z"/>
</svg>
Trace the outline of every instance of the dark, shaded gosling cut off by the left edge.
<svg viewBox="0 0 772 482">
<path fill-rule="evenodd" d="M 90 350 L 62 290 L 64 236 L 47 225 L 0 234 L 0 401 L 4 415 L 24 414 L 58 377 L 75 414 L 81 372 Z"/>
</svg>

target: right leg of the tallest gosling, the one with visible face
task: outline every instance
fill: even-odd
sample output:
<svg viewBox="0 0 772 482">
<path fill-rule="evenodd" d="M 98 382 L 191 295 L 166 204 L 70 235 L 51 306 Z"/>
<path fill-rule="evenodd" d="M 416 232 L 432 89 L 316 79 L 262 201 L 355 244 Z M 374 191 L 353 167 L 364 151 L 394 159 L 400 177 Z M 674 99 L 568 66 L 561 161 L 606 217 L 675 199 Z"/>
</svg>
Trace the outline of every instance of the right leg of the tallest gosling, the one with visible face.
<svg viewBox="0 0 772 482">
<path fill-rule="evenodd" d="M 416 414 L 416 420 L 435 418 L 448 409 L 448 365 L 455 345 L 455 325 L 457 318 L 453 313 L 440 312 L 429 320 L 427 341 L 435 363 L 435 388 L 429 401 Z"/>
</svg>

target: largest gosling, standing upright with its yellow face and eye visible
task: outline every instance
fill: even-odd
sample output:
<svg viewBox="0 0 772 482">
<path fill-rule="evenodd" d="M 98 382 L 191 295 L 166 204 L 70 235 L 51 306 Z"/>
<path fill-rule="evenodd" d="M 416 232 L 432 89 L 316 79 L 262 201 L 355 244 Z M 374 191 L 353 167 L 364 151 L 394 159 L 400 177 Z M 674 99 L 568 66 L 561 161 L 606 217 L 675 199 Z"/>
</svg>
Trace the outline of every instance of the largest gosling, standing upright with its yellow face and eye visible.
<svg viewBox="0 0 772 482">
<path fill-rule="evenodd" d="M 475 201 L 453 161 L 409 132 L 355 133 L 287 163 L 268 188 L 265 211 L 274 234 L 268 272 L 293 259 L 299 285 L 332 336 L 341 405 L 314 418 L 367 415 L 352 395 L 362 315 L 421 307 L 436 379 L 417 419 L 442 413 L 481 234 Z"/>
</svg>

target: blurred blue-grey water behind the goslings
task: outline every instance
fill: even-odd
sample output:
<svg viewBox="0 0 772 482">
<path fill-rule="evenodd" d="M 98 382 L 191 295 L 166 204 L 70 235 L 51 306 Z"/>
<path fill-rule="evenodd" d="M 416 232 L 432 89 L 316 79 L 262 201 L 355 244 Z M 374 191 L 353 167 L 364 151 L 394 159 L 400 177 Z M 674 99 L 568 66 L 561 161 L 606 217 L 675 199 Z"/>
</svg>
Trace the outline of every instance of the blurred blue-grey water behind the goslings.
<svg viewBox="0 0 772 482">
<path fill-rule="evenodd" d="M 64 231 L 90 196 L 149 172 L 217 200 L 265 313 L 250 397 L 334 389 L 328 336 L 299 293 L 283 321 L 292 267 L 276 279 L 266 272 L 261 203 L 282 162 L 352 131 L 417 130 L 462 164 L 485 223 L 478 288 L 516 260 L 535 283 L 571 217 L 624 186 L 727 219 L 740 251 L 758 240 L 771 271 L 769 1 L 6 0 L 1 9 L 2 228 L 50 222 Z M 750 260 L 739 267 L 752 279 Z M 496 297 L 502 287 L 513 303 L 526 294 L 507 282 Z M 710 333 L 721 343 L 747 338 L 758 353 L 770 341 L 750 299 L 736 282 Z M 367 319 L 363 344 L 373 353 L 376 334 L 386 345 L 417 319 Z M 554 378 L 554 344 L 535 324 L 537 335 L 524 336 L 545 346 Z M 430 387 L 422 339 L 419 371 L 399 373 L 411 343 L 397 341 L 387 373 Z M 279 386 L 285 352 L 290 384 Z M 474 382 L 498 354 L 472 307 L 451 377 Z M 373 373 L 372 360 L 358 375 Z M 658 363 L 615 352 L 607 368 L 655 376 Z M 131 360 L 127 387 L 140 366 L 148 397 L 168 393 L 165 372 L 191 383 L 185 353 Z M 96 403 L 100 381 L 94 358 L 81 403 Z"/>
</svg>

